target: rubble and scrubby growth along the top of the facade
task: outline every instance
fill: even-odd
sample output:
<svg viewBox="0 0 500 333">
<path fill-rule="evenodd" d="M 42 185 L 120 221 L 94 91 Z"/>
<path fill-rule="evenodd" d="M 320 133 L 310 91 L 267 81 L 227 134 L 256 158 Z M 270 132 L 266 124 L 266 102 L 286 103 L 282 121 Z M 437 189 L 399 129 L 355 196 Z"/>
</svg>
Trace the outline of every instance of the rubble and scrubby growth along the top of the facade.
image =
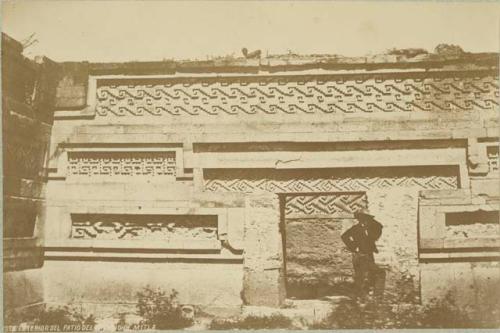
<svg viewBox="0 0 500 333">
<path fill-rule="evenodd" d="M 310 70 L 442 69 L 476 70 L 496 68 L 498 53 L 470 53 L 460 46 L 439 44 L 432 53 L 424 49 L 390 49 L 383 54 L 346 57 L 337 54 L 262 55 L 261 50 L 243 48 L 241 56 L 209 60 L 164 60 L 154 62 L 91 63 L 90 70 L 104 74 L 258 73 Z"/>
</svg>

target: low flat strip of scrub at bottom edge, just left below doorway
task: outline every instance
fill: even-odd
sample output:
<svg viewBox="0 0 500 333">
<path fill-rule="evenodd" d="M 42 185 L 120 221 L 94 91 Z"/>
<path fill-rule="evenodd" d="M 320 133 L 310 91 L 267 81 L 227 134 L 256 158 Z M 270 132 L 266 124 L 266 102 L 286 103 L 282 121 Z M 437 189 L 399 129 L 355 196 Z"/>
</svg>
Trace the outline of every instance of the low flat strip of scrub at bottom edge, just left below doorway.
<svg viewBox="0 0 500 333">
<path fill-rule="evenodd" d="M 259 330 L 259 329 L 292 329 L 292 320 L 281 314 L 271 316 L 247 316 L 242 319 L 214 319 L 210 323 L 211 330 Z"/>
</svg>

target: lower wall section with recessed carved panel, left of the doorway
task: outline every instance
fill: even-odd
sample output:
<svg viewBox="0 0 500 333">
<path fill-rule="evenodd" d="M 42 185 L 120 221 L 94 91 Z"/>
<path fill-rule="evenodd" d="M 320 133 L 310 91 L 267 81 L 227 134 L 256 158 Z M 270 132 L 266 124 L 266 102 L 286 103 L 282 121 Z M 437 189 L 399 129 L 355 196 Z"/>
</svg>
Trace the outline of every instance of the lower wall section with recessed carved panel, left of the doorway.
<svg viewBox="0 0 500 333">
<path fill-rule="evenodd" d="M 140 177 L 55 181 L 48 194 L 48 302 L 104 304 L 100 315 L 135 311 L 137 292 L 150 286 L 175 289 L 180 302 L 207 312 L 241 306 L 241 196 L 194 194 L 183 182 Z M 91 278 L 75 287 L 83 275 Z"/>
</svg>

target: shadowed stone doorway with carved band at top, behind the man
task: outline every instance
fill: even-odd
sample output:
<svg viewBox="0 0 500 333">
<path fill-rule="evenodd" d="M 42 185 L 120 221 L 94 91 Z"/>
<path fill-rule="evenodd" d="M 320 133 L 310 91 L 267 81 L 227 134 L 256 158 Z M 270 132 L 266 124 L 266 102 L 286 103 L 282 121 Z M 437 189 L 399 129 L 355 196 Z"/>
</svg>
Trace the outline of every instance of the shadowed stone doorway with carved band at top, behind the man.
<svg viewBox="0 0 500 333">
<path fill-rule="evenodd" d="M 287 298 L 349 295 L 351 254 L 341 234 L 367 206 L 364 192 L 299 193 L 281 197 Z"/>
</svg>

